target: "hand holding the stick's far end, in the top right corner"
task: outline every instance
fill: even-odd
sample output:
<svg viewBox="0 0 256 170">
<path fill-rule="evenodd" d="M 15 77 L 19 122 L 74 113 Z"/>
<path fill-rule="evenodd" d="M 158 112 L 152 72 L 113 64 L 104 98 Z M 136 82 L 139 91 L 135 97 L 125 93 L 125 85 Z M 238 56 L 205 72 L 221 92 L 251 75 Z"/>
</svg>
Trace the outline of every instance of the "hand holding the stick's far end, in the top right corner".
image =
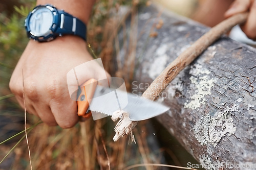
<svg viewBox="0 0 256 170">
<path fill-rule="evenodd" d="M 256 40 L 256 1 L 255 0 L 236 0 L 226 11 L 225 17 L 230 17 L 240 12 L 249 11 L 247 21 L 241 25 L 241 29 L 250 39 Z"/>
</svg>

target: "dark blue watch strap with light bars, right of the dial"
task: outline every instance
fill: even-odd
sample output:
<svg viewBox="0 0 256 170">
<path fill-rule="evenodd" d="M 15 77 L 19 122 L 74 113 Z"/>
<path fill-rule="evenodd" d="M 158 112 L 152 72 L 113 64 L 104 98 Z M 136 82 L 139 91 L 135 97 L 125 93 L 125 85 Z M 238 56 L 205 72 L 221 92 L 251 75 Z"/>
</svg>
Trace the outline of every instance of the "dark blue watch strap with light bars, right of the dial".
<svg viewBox="0 0 256 170">
<path fill-rule="evenodd" d="M 56 33 L 59 35 L 72 34 L 86 40 L 86 25 L 78 18 L 66 13 L 63 10 L 58 10 L 60 15 L 60 25 Z"/>
</svg>

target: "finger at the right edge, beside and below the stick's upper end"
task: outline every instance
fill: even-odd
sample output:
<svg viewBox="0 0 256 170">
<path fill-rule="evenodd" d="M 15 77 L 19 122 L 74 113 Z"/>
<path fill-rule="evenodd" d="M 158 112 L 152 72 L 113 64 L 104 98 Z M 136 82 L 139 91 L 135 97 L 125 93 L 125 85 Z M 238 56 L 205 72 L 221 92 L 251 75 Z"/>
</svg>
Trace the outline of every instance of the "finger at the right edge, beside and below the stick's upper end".
<svg viewBox="0 0 256 170">
<path fill-rule="evenodd" d="M 256 1 L 253 1 L 248 19 L 241 29 L 248 38 L 256 40 Z"/>
</svg>

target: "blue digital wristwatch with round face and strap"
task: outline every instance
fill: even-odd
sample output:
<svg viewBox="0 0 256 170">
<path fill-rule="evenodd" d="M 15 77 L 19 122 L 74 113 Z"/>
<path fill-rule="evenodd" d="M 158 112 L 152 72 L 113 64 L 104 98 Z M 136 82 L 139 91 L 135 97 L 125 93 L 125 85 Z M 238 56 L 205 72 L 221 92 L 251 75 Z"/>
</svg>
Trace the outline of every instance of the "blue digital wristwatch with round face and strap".
<svg viewBox="0 0 256 170">
<path fill-rule="evenodd" d="M 36 6 L 25 19 L 25 28 L 28 37 L 39 42 L 66 34 L 86 40 L 87 28 L 80 19 L 49 4 Z"/>
</svg>

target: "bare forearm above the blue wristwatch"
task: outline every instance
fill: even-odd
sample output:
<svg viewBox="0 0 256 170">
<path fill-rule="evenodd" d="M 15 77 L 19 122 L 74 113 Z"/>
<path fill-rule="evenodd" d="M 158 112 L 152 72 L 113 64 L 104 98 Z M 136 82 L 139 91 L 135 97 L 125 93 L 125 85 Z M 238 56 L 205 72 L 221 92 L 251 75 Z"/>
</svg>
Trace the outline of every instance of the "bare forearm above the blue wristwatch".
<svg viewBox="0 0 256 170">
<path fill-rule="evenodd" d="M 88 23 L 95 0 L 37 0 L 37 5 L 52 4 Z"/>
</svg>

